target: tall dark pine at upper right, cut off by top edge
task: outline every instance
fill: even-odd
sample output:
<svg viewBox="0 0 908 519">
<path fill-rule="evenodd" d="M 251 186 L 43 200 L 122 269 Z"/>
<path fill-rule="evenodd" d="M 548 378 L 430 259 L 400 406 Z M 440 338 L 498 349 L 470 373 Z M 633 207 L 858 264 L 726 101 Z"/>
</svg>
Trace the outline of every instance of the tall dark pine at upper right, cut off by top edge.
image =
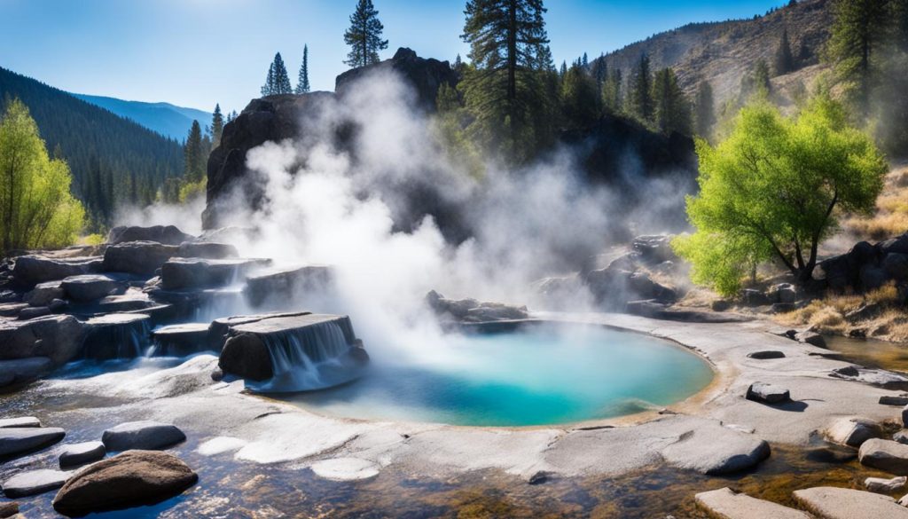
<svg viewBox="0 0 908 519">
<path fill-rule="evenodd" d="M 873 58 L 885 35 L 886 4 L 882 0 L 836 0 L 834 5 L 826 58 L 862 119 L 870 109 Z"/>
</svg>

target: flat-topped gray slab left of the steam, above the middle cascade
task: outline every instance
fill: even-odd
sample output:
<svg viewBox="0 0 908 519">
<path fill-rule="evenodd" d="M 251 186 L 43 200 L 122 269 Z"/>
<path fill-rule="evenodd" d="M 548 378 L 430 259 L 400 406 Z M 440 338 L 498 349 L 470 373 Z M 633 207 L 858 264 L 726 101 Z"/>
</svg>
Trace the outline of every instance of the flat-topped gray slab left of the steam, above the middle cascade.
<svg viewBox="0 0 908 519">
<path fill-rule="evenodd" d="M 266 259 L 171 258 L 161 267 L 164 290 L 223 286 L 271 264 Z"/>
</svg>

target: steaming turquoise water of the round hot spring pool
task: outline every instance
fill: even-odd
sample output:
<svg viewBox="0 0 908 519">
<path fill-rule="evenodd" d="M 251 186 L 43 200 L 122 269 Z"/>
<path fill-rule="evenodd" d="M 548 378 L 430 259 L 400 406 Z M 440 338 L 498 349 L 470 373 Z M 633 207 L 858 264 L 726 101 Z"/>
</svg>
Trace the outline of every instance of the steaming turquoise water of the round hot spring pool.
<svg viewBox="0 0 908 519">
<path fill-rule="evenodd" d="M 424 344 L 425 354 L 407 359 L 389 359 L 393 348 L 383 348 L 360 380 L 283 398 L 352 418 L 558 424 L 672 404 L 712 379 L 706 362 L 679 346 L 597 326 L 533 326 L 445 341 Z"/>
</svg>

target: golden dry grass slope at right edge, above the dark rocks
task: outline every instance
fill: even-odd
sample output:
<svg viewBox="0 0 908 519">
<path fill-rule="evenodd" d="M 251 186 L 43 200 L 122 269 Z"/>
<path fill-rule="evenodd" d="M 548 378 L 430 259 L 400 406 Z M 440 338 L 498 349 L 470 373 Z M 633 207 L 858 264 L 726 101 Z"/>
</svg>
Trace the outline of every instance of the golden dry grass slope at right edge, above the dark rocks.
<svg viewBox="0 0 908 519">
<path fill-rule="evenodd" d="M 908 165 L 895 165 L 886 175 L 883 195 L 871 216 L 844 219 L 844 231 L 860 239 L 885 240 L 908 231 Z"/>
</svg>

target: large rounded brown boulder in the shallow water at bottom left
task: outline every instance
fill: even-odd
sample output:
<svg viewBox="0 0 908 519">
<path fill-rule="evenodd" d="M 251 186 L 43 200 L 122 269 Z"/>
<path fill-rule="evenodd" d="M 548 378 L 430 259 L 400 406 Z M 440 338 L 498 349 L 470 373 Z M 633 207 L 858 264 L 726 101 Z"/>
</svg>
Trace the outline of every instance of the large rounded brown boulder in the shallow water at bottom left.
<svg viewBox="0 0 908 519">
<path fill-rule="evenodd" d="M 70 478 L 54 497 L 54 510 L 75 516 L 153 504 L 183 493 L 198 479 L 173 454 L 127 451 Z"/>
</svg>

